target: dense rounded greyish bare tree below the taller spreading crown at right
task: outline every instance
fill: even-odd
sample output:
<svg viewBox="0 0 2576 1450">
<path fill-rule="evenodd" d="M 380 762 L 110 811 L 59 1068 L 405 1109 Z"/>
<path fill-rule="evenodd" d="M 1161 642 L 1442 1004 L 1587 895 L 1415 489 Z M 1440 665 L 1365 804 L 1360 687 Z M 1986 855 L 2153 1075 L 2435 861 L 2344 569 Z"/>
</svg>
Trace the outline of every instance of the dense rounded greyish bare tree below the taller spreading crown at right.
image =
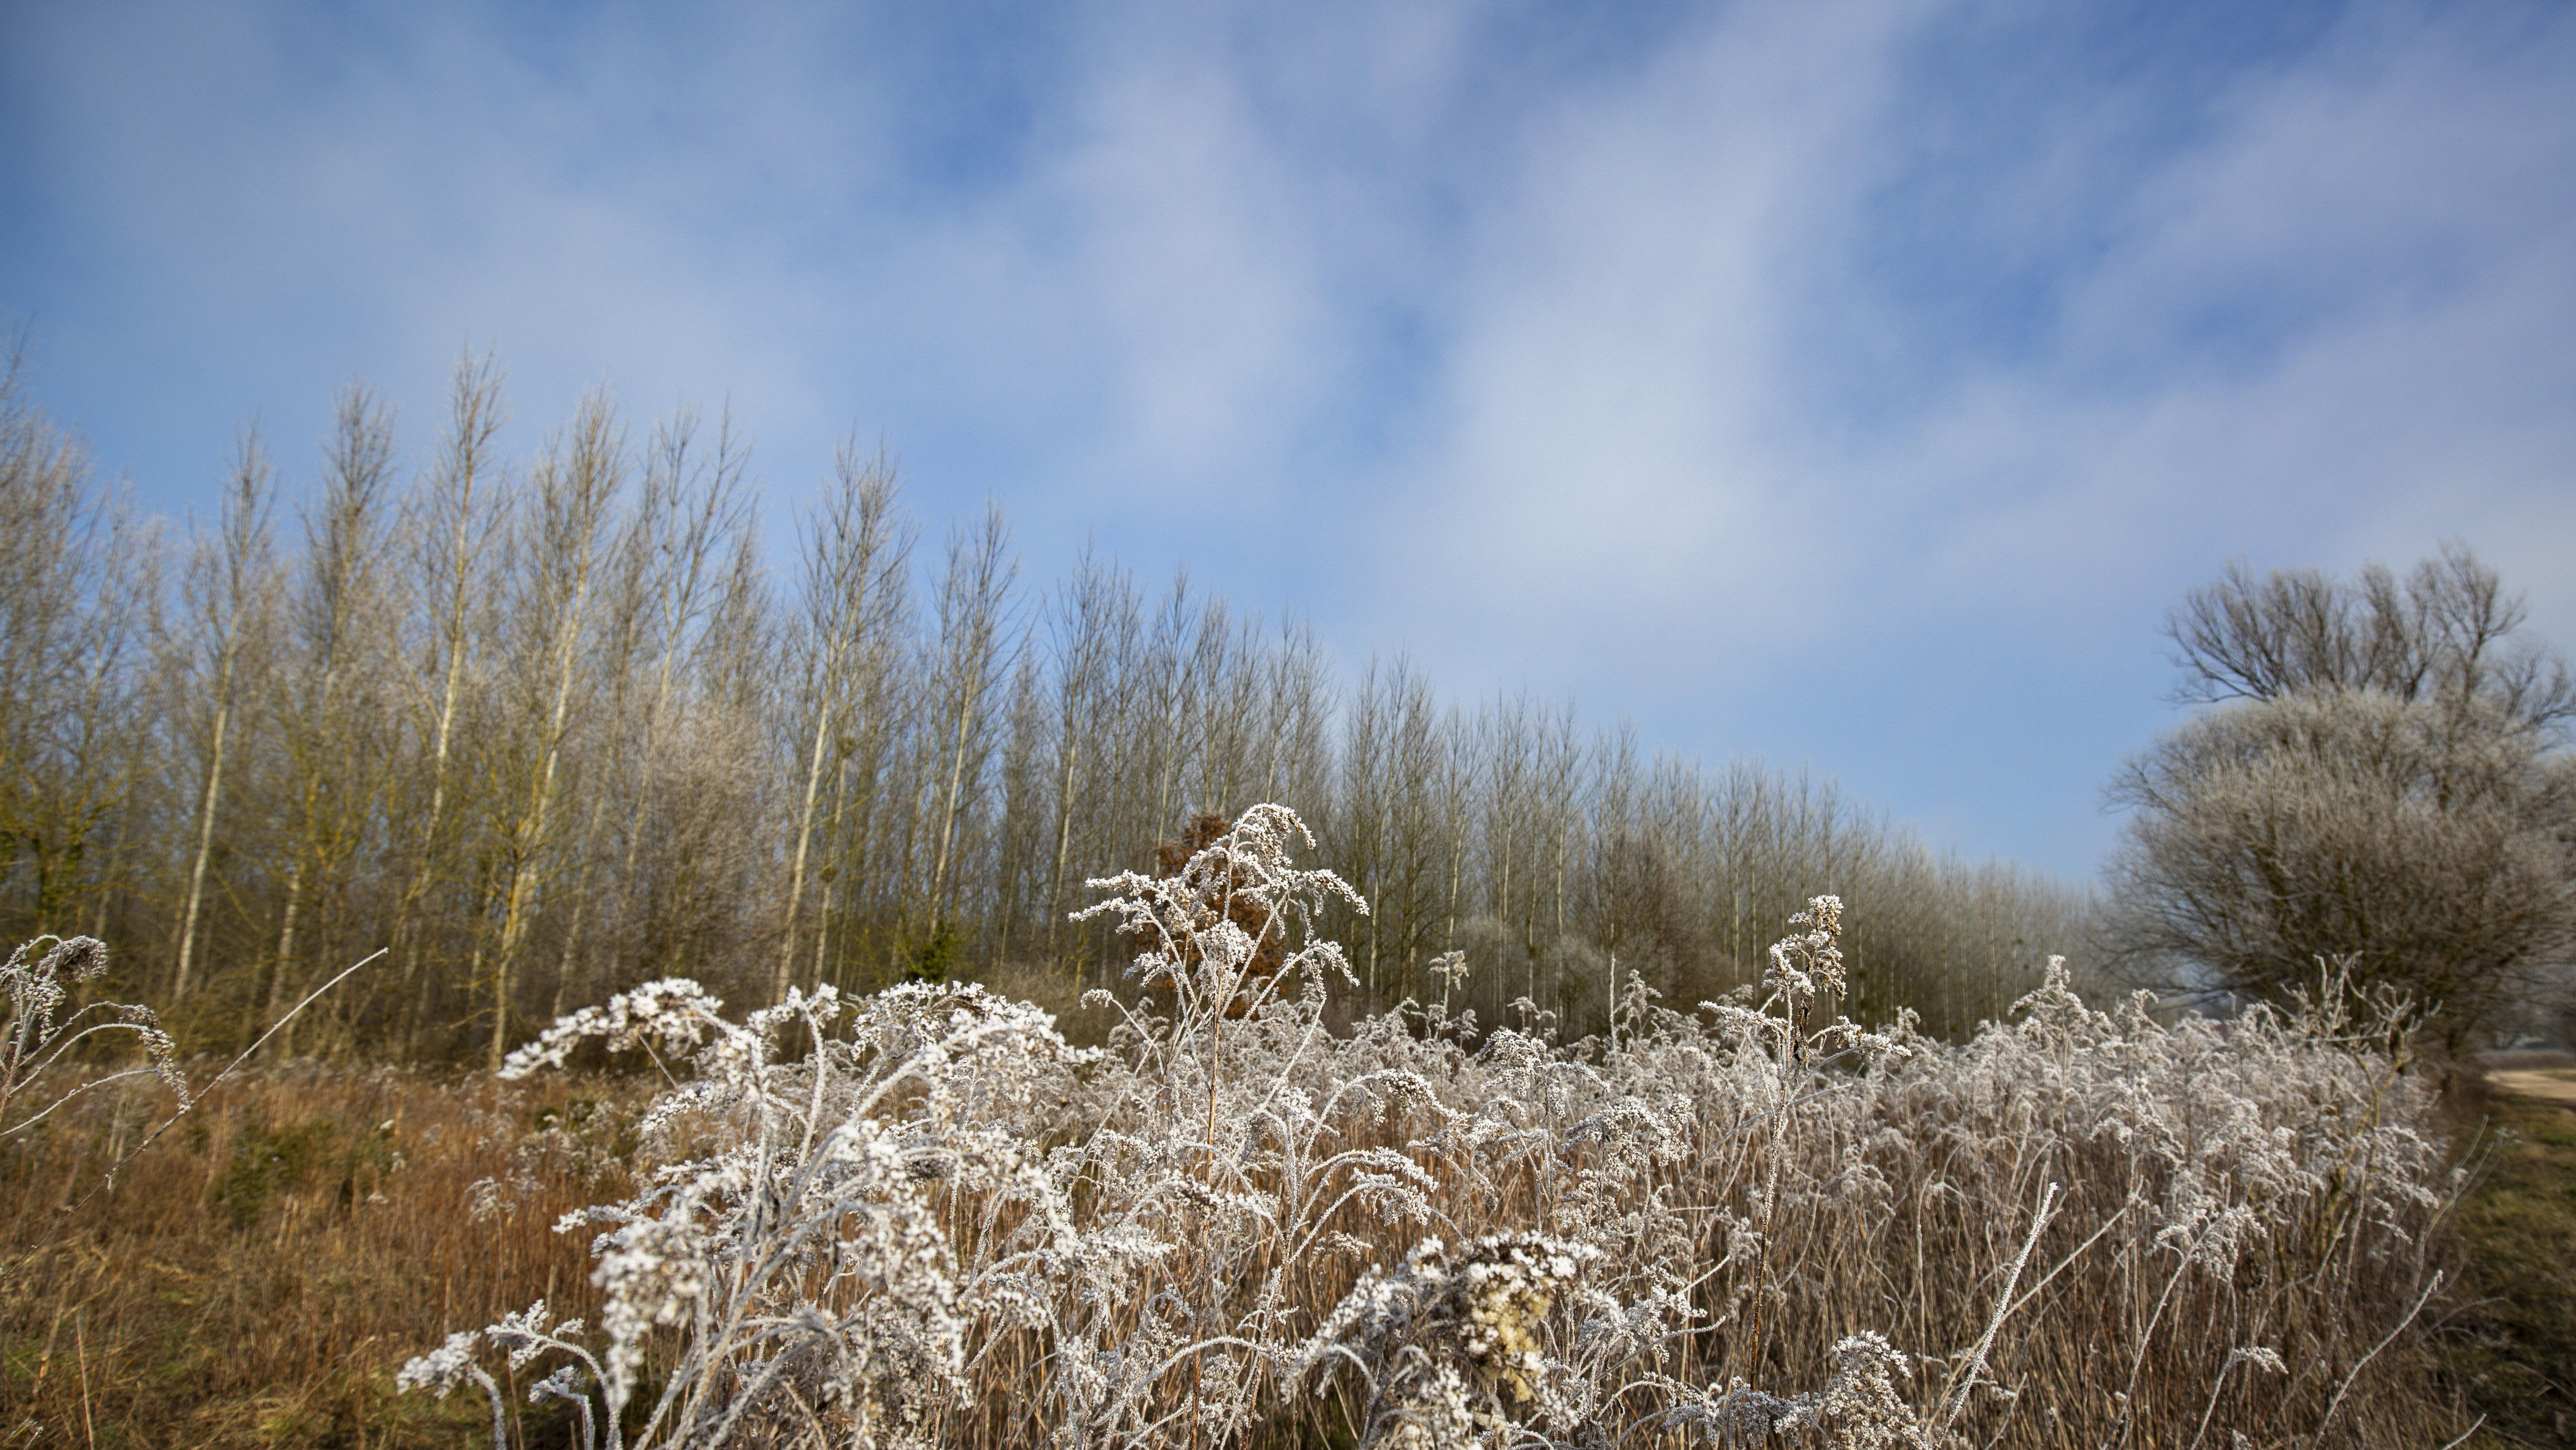
<svg viewBox="0 0 2576 1450">
<path fill-rule="evenodd" d="M 2187 986 L 2280 999 L 2352 956 L 2437 1002 L 2460 1046 L 2576 945 L 2576 762 L 2496 701 L 2231 703 L 2133 760 L 2112 801 L 2136 809 L 2120 940 Z"/>
</svg>

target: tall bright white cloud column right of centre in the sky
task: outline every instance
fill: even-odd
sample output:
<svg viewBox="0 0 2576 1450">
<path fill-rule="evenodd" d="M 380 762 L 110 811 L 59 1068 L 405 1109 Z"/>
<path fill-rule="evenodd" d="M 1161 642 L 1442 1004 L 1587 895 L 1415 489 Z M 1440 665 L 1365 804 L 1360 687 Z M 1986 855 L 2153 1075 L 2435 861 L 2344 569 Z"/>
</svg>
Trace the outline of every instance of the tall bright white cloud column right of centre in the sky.
<svg viewBox="0 0 2576 1450">
<path fill-rule="evenodd" d="M 1414 479 L 1383 556 L 1430 554 L 1406 605 L 1455 600 L 1486 649 L 1677 613 L 1795 644 L 1839 613 L 1857 520 L 1785 371 L 1914 18 L 1741 10 L 1551 108 L 1479 214 L 1425 448 L 1391 466 Z"/>
</svg>

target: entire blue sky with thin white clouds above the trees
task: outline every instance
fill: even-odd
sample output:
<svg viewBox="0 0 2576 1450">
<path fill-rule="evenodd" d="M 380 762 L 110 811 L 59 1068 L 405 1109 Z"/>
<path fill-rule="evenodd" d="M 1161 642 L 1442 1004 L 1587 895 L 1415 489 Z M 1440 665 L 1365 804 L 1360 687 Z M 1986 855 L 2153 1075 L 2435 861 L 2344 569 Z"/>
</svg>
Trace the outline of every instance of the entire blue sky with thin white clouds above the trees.
<svg viewBox="0 0 2576 1450">
<path fill-rule="evenodd" d="M 721 15 L 721 18 L 719 18 Z M 2081 876 L 2228 556 L 2576 641 L 2576 10 L 0 3 L 0 314 L 155 507 L 732 404 L 1028 572 L 1574 695 Z"/>
</svg>

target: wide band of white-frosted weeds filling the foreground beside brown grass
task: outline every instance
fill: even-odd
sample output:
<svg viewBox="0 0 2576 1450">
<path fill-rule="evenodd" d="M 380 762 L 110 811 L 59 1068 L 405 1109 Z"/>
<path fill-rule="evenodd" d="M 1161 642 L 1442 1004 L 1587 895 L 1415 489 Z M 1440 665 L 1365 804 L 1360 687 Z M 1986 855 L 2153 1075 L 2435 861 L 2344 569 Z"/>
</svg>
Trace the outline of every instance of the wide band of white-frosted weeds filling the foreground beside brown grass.
<svg viewBox="0 0 2576 1450">
<path fill-rule="evenodd" d="M 1280 806 L 1164 878 L 1110 1046 L 979 986 L 742 1020 L 688 981 L 564 1017 L 675 1084 L 590 1231 L 598 1329 L 482 1352 L 623 1445 L 2406 1442 L 2452 1187 L 2403 1002 L 2164 1025 L 2056 966 L 1963 1046 L 1816 1020 L 1819 896 L 1759 992 L 1610 1033 L 1520 1002 L 1324 1028 L 1360 907 Z M 1365 909 L 1365 907 L 1360 907 Z M 1471 963 L 1445 958 L 1455 986 Z M 2375 1355 L 2375 1357 L 2372 1357 Z"/>
</svg>

